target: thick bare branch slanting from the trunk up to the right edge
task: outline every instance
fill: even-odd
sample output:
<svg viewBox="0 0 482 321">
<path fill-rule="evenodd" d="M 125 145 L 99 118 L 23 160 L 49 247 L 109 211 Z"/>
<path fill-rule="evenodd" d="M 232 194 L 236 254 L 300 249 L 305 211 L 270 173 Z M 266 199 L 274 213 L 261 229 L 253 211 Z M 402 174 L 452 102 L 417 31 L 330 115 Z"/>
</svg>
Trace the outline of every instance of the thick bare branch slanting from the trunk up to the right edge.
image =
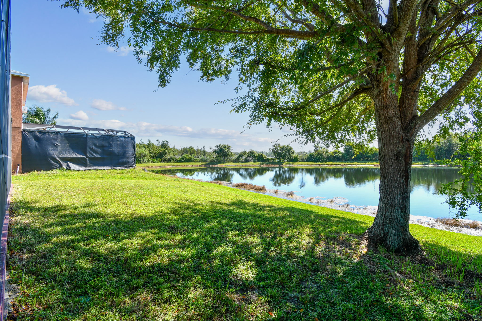
<svg viewBox="0 0 482 321">
<path fill-rule="evenodd" d="M 442 97 L 440 97 L 435 103 L 433 103 L 422 115 L 418 116 L 415 120 L 415 130 L 418 132 L 430 121 L 435 119 L 439 114 L 441 114 L 454 100 L 457 96 L 464 91 L 470 82 L 477 76 L 477 74 L 482 70 L 482 48 L 477 53 L 477 56 L 470 64 L 469 68 L 465 73 L 458 79 L 454 86 L 447 90 Z"/>
</svg>

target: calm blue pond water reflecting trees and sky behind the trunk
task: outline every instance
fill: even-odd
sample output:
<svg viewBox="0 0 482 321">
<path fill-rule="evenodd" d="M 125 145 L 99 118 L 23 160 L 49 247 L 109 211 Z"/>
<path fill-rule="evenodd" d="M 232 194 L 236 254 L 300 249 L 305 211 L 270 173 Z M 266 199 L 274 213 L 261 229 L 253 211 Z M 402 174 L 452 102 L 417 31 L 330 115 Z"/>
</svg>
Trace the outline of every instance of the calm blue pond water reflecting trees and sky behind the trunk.
<svg viewBox="0 0 482 321">
<path fill-rule="evenodd" d="M 378 205 L 378 167 L 190 167 L 151 171 L 200 180 L 249 182 L 268 189 L 295 191 L 304 197 L 344 197 L 350 205 Z M 411 214 L 453 217 L 455 211 L 443 204 L 445 197 L 434 192 L 443 183 L 460 178 L 457 172 L 456 167 L 413 167 Z M 477 208 L 470 208 L 467 218 L 482 221 Z"/>
</svg>

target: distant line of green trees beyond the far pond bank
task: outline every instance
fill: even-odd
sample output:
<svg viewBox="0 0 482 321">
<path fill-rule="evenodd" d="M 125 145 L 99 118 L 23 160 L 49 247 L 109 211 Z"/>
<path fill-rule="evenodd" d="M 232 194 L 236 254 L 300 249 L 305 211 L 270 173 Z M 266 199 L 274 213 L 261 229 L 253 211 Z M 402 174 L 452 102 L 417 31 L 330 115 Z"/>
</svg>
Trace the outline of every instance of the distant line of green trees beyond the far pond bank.
<svg viewBox="0 0 482 321">
<path fill-rule="evenodd" d="M 414 161 L 436 161 L 450 159 L 451 157 L 463 158 L 458 154 L 460 143 L 452 134 L 446 139 L 425 146 L 415 153 Z M 343 151 L 335 149 L 329 151 L 326 147 L 315 145 L 313 151 L 295 152 L 290 145 L 275 143 L 268 152 L 255 151 L 253 149 L 242 152 L 233 152 L 228 144 L 218 144 L 202 148 L 187 146 L 176 148 L 171 146 L 168 141 L 155 143 L 142 140 L 136 143 L 136 162 L 137 163 L 191 163 L 191 162 L 213 162 L 213 163 L 250 163 L 250 162 L 377 162 L 378 148 L 365 146 L 355 152 L 352 146 L 345 146 Z"/>
</svg>

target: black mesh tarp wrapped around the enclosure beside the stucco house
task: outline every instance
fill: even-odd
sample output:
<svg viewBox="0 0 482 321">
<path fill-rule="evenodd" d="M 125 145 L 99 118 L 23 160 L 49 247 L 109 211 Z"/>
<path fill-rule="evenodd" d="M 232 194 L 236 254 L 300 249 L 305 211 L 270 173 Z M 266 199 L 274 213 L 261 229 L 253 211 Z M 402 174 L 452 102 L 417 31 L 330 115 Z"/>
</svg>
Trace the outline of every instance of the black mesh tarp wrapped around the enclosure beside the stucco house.
<svg viewBox="0 0 482 321">
<path fill-rule="evenodd" d="M 135 137 L 22 130 L 22 171 L 135 167 Z"/>
</svg>

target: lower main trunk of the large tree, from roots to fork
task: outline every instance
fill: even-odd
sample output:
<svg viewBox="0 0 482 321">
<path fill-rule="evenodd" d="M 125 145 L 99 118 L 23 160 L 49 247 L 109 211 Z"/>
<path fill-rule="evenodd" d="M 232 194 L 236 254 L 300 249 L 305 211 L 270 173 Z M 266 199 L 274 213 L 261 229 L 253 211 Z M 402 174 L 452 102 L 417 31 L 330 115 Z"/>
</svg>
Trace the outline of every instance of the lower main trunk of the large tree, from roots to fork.
<svg viewBox="0 0 482 321">
<path fill-rule="evenodd" d="M 401 120 L 397 96 L 375 99 L 375 120 L 380 161 L 380 200 L 373 225 L 366 231 L 368 247 L 400 254 L 420 252 L 410 234 L 410 174 L 414 135 L 408 134 Z"/>
</svg>

